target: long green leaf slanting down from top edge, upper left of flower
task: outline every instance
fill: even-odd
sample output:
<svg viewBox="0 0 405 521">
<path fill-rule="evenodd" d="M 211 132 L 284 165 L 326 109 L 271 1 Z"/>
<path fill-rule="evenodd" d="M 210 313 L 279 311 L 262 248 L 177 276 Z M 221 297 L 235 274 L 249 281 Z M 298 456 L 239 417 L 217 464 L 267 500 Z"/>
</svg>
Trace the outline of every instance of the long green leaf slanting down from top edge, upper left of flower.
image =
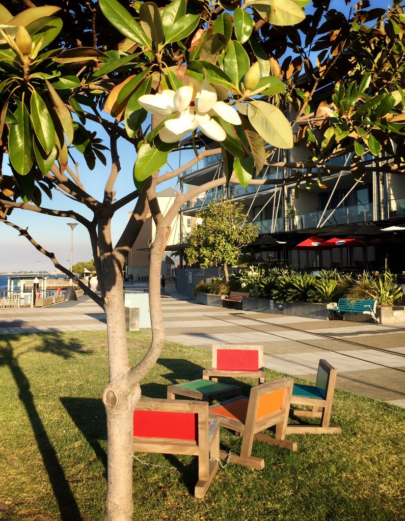
<svg viewBox="0 0 405 521">
<path fill-rule="evenodd" d="M 151 40 L 137 21 L 117 0 L 99 0 L 99 5 L 105 18 L 126 38 L 144 47 L 152 46 Z"/>
</svg>

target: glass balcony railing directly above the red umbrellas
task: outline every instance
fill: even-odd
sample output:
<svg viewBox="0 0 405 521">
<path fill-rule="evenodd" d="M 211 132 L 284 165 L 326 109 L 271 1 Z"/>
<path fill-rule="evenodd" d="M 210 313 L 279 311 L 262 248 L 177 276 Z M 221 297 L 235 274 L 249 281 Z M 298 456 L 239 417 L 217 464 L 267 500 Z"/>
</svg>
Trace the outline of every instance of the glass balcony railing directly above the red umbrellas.
<svg viewBox="0 0 405 521">
<path fill-rule="evenodd" d="M 373 220 L 372 203 L 336 208 L 333 214 L 329 216 L 330 212 L 331 210 L 326 210 L 324 217 L 322 217 L 323 212 L 299 214 L 296 217 L 297 228 L 315 228 L 318 226 L 319 220 L 323 226 L 344 225 L 349 224 L 349 222 Z M 325 219 L 326 222 L 324 222 Z"/>
</svg>

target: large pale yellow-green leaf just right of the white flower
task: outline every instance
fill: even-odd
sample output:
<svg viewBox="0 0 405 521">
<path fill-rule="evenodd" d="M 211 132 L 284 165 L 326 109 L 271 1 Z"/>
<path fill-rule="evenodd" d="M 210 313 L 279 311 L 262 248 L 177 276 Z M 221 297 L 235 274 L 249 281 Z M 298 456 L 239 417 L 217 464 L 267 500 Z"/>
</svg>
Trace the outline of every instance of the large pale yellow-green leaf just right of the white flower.
<svg viewBox="0 0 405 521">
<path fill-rule="evenodd" d="M 257 133 L 277 148 L 292 148 L 293 133 L 290 122 L 279 108 L 264 101 L 252 101 L 247 116 Z"/>
</svg>

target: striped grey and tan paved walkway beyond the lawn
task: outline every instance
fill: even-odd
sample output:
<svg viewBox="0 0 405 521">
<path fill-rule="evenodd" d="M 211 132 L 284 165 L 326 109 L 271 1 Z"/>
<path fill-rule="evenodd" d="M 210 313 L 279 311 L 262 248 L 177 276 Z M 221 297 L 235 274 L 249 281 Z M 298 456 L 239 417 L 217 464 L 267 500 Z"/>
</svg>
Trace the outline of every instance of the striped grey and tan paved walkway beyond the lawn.
<svg viewBox="0 0 405 521">
<path fill-rule="evenodd" d="M 319 358 L 325 358 L 339 371 L 337 387 L 405 407 L 405 325 L 203 306 L 170 287 L 162 307 L 168 340 L 206 350 L 213 343 L 263 344 L 266 367 L 313 381 Z M 0 309 L 0 341 L 10 333 L 105 329 L 105 314 L 87 297 L 46 308 Z"/>
</svg>

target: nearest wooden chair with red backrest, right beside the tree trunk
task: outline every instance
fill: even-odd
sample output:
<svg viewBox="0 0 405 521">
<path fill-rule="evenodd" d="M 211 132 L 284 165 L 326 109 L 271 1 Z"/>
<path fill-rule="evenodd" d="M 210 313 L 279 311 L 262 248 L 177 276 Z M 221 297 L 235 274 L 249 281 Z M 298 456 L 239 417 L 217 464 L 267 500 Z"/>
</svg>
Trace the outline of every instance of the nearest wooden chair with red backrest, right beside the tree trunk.
<svg viewBox="0 0 405 521">
<path fill-rule="evenodd" d="M 204 498 L 219 468 L 219 422 L 209 421 L 208 402 L 142 398 L 134 411 L 133 450 L 198 456 L 194 495 Z"/>
</svg>

